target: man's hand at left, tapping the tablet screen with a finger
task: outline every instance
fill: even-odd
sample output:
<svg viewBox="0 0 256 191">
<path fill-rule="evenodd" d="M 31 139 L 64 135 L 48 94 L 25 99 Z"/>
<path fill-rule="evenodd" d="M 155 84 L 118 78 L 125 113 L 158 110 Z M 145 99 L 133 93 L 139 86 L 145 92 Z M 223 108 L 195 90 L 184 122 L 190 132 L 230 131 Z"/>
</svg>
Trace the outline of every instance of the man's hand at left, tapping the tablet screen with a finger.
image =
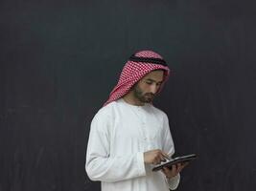
<svg viewBox="0 0 256 191">
<path fill-rule="evenodd" d="M 144 162 L 147 164 L 156 165 L 161 163 L 161 161 L 166 161 L 165 158 L 169 159 L 169 156 L 160 149 L 155 149 L 144 153 Z"/>
</svg>

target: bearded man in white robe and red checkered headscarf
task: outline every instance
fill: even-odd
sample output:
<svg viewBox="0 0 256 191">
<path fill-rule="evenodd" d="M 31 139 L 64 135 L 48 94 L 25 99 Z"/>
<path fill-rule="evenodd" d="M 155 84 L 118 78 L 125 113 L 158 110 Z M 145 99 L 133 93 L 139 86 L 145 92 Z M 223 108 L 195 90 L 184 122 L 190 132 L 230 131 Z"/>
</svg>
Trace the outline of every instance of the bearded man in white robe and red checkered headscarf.
<svg viewBox="0 0 256 191">
<path fill-rule="evenodd" d="M 152 172 L 175 153 L 168 117 L 152 106 L 170 70 L 158 53 L 130 56 L 117 86 L 91 123 L 85 169 L 102 191 L 168 191 L 185 165 Z"/>
</svg>

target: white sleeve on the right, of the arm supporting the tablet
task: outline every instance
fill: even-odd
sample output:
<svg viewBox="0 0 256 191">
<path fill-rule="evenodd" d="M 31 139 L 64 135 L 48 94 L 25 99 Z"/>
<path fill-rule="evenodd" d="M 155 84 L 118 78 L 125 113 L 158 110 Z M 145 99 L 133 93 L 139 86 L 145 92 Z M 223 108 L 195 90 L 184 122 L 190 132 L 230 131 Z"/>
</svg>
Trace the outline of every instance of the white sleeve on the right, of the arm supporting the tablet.
<svg viewBox="0 0 256 191">
<path fill-rule="evenodd" d="M 168 153 L 169 156 L 173 156 L 175 154 L 175 144 L 171 135 L 169 120 L 166 115 L 164 115 L 164 139 L 163 139 L 163 151 Z M 169 188 L 171 190 L 175 190 L 179 184 L 180 175 L 177 174 L 172 179 L 166 179 L 169 184 Z"/>
</svg>

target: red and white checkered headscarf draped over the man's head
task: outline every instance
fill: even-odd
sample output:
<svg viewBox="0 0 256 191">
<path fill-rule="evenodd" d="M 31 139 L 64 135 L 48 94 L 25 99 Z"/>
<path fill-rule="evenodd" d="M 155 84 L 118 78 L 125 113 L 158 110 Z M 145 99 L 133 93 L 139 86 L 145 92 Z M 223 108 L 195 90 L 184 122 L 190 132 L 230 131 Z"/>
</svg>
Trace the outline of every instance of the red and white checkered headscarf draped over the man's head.
<svg viewBox="0 0 256 191">
<path fill-rule="evenodd" d="M 132 56 L 135 56 L 135 58 L 138 59 L 131 59 Z M 163 57 L 158 53 L 154 53 L 152 51 L 140 51 L 132 56 L 124 66 L 119 81 L 110 93 L 104 106 L 121 98 L 122 96 L 125 96 L 134 84 L 136 84 L 146 74 L 151 73 L 151 71 L 162 69 L 165 72 L 164 81 L 158 92 L 161 91 L 164 82 L 168 79 L 170 69 L 166 64 L 162 65 L 157 63 L 158 60 L 160 63 L 165 63 Z M 142 58 L 142 61 L 139 58 Z"/>
</svg>

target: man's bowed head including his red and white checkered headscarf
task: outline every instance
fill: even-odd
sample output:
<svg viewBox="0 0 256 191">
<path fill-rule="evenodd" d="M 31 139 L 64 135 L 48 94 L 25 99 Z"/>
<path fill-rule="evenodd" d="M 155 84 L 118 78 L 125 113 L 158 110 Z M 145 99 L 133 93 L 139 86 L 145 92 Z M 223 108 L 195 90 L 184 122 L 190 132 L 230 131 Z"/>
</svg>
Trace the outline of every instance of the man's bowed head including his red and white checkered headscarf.
<svg viewBox="0 0 256 191">
<path fill-rule="evenodd" d="M 131 92 L 143 103 L 151 102 L 153 96 L 161 91 L 169 74 L 170 69 L 160 54 L 152 51 L 134 53 L 129 57 L 105 105 Z"/>
</svg>

